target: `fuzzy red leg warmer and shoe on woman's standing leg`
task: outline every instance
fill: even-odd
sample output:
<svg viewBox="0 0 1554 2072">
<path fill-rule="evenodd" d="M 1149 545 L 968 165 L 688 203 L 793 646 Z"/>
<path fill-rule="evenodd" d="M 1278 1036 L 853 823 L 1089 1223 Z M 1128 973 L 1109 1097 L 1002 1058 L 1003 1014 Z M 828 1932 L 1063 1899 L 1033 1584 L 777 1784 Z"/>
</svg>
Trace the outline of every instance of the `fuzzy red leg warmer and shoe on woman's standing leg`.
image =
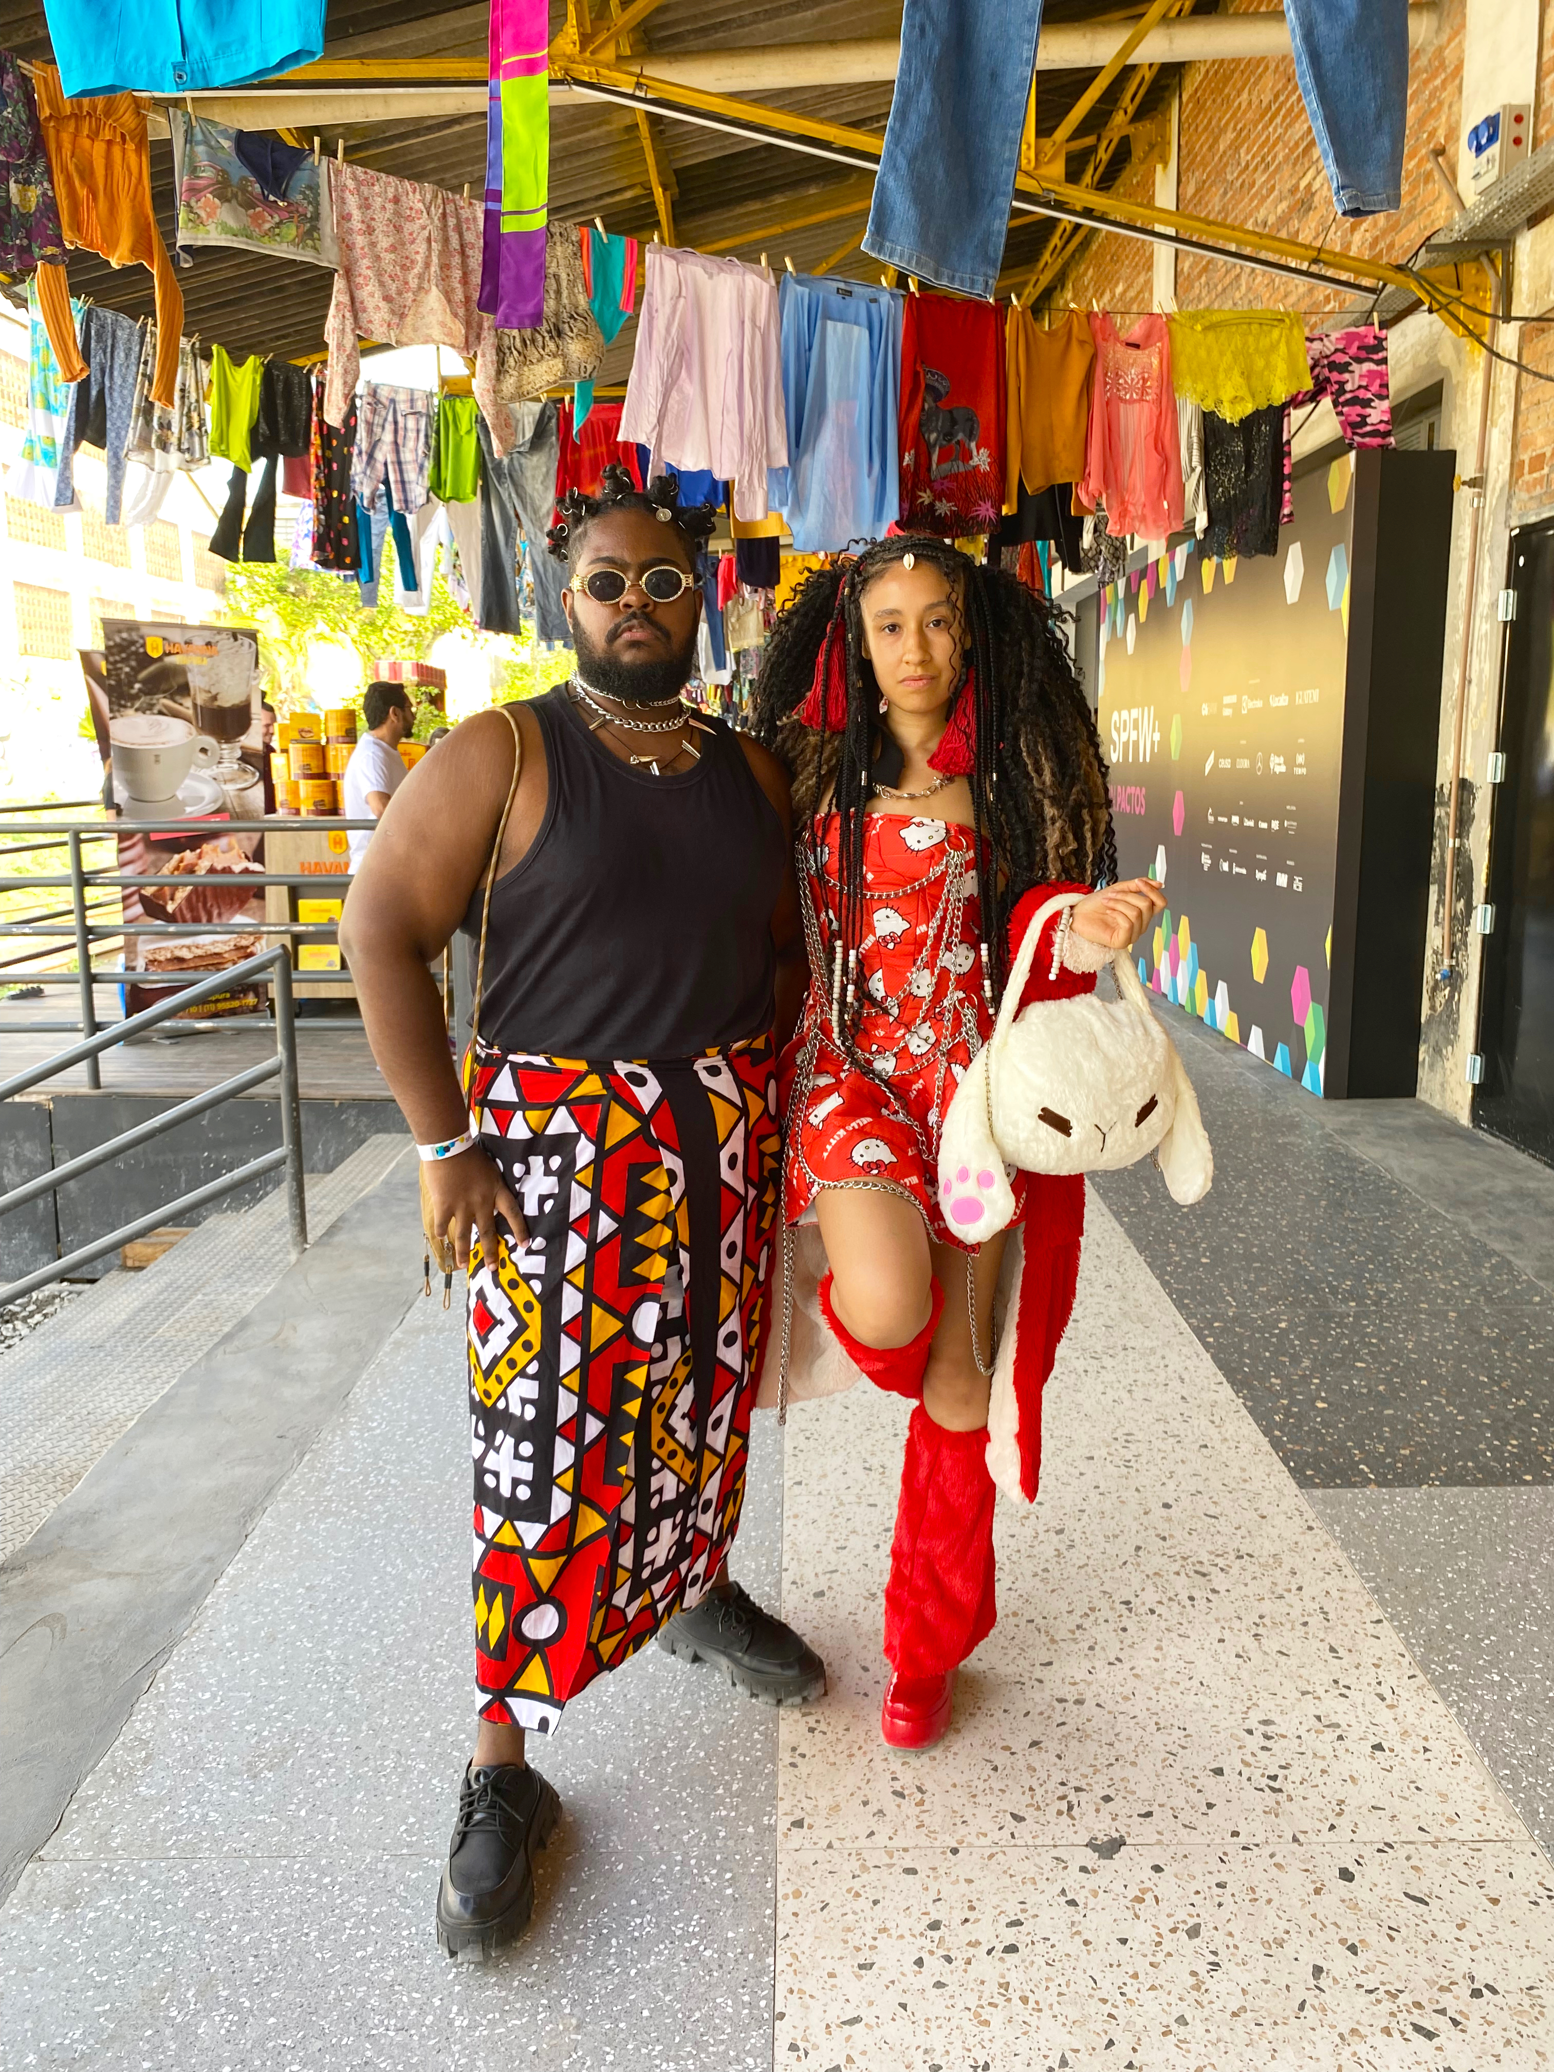
<svg viewBox="0 0 1554 2072">
<path fill-rule="evenodd" d="M 988 1434 L 947 1432 L 918 1405 L 908 1426 L 891 1579 L 885 1585 L 881 1734 L 928 1749 L 949 1728 L 955 1670 L 992 1633 L 992 1500 Z"/>
</svg>

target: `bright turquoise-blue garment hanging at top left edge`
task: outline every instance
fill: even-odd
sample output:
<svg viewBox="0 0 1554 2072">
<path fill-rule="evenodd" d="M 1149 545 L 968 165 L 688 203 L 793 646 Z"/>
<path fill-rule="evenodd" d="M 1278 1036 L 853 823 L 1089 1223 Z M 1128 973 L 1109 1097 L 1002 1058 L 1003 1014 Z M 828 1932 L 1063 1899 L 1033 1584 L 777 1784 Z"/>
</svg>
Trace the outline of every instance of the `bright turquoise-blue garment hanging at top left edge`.
<svg viewBox="0 0 1554 2072">
<path fill-rule="evenodd" d="M 323 50 L 325 0 L 46 0 L 48 33 L 70 99 L 193 93 L 311 64 Z"/>
</svg>

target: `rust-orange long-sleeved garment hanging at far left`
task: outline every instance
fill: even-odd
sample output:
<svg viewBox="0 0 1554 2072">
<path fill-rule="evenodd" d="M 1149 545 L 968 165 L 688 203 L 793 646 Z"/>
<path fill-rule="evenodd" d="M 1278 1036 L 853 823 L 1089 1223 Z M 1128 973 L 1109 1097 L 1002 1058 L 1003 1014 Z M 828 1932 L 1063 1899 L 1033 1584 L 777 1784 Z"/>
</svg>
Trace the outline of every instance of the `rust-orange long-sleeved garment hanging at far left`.
<svg viewBox="0 0 1554 2072">
<path fill-rule="evenodd" d="M 102 102 L 66 102 L 52 64 L 33 70 L 37 120 L 44 131 L 60 228 L 66 244 L 99 253 L 112 265 L 145 265 L 155 282 L 157 361 L 151 398 L 172 408 L 178 394 L 178 342 L 184 298 L 151 209 L 151 149 L 145 114 L 133 93 Z M 39 267 L 62 274 L 60 267 Z M 52 292 L 58 286 L 58 292 Z M 70 296 L 64 280 L 37 282 L 50 344 L 64 369 L 79 365 Z M 66 377 L 68 379 L 68 377 Z"/>
</svg>

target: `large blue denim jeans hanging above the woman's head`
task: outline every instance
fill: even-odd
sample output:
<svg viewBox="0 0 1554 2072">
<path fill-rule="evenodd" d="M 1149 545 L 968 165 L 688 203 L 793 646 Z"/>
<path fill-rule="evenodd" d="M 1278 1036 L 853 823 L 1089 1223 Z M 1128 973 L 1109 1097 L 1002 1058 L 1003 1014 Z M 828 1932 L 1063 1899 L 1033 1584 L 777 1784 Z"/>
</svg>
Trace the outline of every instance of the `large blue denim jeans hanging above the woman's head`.
<svg viewBox="0 0 1554 2072">
<path fill-rule="evenodd" d="M 1042 0 L 905 0 L 864 251 L 992 296 Z"/>
</svg>

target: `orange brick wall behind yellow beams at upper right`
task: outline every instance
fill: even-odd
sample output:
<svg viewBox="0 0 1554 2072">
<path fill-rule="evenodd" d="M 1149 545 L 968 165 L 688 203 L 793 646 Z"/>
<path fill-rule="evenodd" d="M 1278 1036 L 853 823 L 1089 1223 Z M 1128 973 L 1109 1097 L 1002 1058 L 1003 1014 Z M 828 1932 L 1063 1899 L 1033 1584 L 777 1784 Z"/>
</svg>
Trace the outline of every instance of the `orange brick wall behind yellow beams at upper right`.
<svg viewBox="0 0 1554 2072">
<path fill-rule="evenodd" d="M 1268 12 L 1278 0 L 1231 0 L 1227 12 Z M 1554 8 L 1550 8 L 1554 21 Z M 1394 215 L 1345 222 L 1334 213 L 1322 160 L 1312 137 L 1295 66 L 1287 58 L 1189 64 L 1181 75 L 1179 207 L 1187 215 L 1245 224 L 1274 236 L 1328 244 L 1368 259 L 1407 259 L 1452 215 L 1428 147 L 1457 160 L 1461 122 L 1465 0 L 1440 0 L 1440 29 L 1409 68 L 1409 128 L 1403 157 L 1403 207 Z M 1546 27 L 1546 39 L 1554 31 Z M 1554 66 L 1554 48 L 1550 50 Z M 1131 180 L 1131 184 L 1129 184 Z M 1154 199 L 1148 168 L 1129 170 L 1119 193 Z M 1082 292 L 1080 292 L 1082 290 Z M 1102 309 L 1150 303 L 1148 247 L 1131 238 L 1096 236 L 1059 278 L 1051 300 Z M 1303 309 L 1324 315 L 1347 298 L 1307 288 L 1278 274 L 1218 259 L 1183 257 L 1177 265 L 1181 309 Z"/>
</svg>

